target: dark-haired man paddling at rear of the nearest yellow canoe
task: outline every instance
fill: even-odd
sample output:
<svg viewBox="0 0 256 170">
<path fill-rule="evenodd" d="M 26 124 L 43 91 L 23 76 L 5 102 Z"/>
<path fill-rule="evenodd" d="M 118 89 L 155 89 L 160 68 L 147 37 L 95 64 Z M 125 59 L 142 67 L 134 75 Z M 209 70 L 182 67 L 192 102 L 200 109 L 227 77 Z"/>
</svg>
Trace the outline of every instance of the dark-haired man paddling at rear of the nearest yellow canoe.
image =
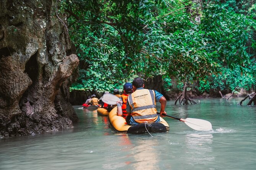
<svg viewBox="0 0 256 170">
<path fill-rule="evenodd" d="M 161 103 L 160 116 L 166 114 L 166 98 L 158 91 L 145 89 L 144 86 L 143 80 L 139 77 L 132 81 L 134 92 L 128 96 L 126 104 L 126 122 L 129 125 L 137 125 L 145 122 L 160 122 L 156 102 Z"/>
</svg>

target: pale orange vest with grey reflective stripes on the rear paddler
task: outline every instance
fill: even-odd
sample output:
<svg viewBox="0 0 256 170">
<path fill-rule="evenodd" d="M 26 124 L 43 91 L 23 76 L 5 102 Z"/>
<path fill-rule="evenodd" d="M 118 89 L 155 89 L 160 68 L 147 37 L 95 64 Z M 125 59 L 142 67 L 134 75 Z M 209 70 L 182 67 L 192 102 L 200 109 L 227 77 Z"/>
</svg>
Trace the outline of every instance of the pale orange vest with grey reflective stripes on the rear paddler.
<svg viewBox="0 0 256 170">
<path fill-rule="evenodd" d="M 138 123 L 155 122 L 158 118 L 155 91 L 139 89 L 128 96 L 132 117 Z"/>
</svg>

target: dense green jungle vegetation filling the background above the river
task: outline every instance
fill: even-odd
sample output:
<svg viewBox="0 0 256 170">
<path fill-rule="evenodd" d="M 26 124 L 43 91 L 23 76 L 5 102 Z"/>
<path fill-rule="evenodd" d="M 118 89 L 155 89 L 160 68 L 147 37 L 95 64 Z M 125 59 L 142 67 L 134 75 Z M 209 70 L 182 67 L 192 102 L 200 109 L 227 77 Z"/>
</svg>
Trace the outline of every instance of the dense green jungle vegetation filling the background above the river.
<svg viewBox="0 0 256 170">
<path fill-rule="evenodd" d="M 166 91 L 184 82 L 199 93 L 255 89 L 255 0 L 58 3 L 80 59 L 70 90 L 111 91 L 157 75 Z"/>
</svg>

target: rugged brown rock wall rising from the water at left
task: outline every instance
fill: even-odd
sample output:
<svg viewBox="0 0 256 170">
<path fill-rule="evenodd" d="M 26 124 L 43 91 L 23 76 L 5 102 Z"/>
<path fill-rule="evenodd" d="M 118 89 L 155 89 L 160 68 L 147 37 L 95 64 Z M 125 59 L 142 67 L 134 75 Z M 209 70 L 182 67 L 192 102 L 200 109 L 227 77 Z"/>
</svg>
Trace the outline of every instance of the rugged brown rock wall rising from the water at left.
<svg viewBox="0 0 256 170">
<path fill-rule="evenodd" d="M 79 60 L 56 1 L 0 2 L 0 137 L 72 128 Z M 62 21 L 61 21 L 62 20 Z"/>
</svg>

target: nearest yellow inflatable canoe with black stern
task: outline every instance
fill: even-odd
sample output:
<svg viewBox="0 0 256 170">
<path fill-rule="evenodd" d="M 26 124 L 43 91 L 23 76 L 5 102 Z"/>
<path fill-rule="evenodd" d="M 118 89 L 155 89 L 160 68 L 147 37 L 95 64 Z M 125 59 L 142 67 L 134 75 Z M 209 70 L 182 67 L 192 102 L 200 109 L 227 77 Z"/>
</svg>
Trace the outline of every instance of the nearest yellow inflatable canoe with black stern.
<svg viewBox="0 0 256 170">
<path fill-rule="evenodd" d="M 114 107 L 108 115 L 109 123 L 116 132 L 142 134 L 162 133 L 170 130 L 168 123 L 160 117 L 159 123 L 140 123 L 139 125 L 128 125 L 122 116 L 117 115 L 117 107 Z"/>
</svg>

